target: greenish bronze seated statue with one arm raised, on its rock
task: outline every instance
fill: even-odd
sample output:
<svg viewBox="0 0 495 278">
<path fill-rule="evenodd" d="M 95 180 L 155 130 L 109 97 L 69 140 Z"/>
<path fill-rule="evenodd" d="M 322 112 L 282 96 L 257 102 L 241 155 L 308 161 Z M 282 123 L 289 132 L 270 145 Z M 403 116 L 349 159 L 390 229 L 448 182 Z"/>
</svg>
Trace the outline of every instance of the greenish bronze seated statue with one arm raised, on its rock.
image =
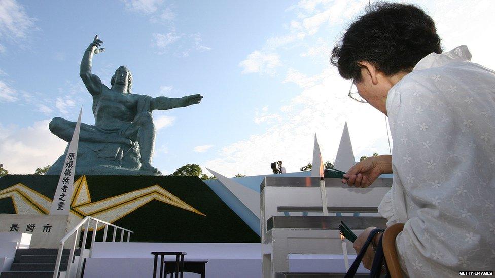
<svg viewBox="0 0 495 278">
<path fill-rule="evenodd" d="M 91 73 L 93 56 L 104 51 L 103 41 L 95 36 L 81 61 L 79 75 L 93 96 L 95 124 L 81 123 L 77 156 L 77 175 L 157 175 L 151 165 L 155 145 L 155 125 L 151 112 L 198 104 L 200 94 L 182 98 L 151 97 L 131 93 L 132 75 L 120 66 L 110 81 L 111 88 Z M 55 117 L 50 131 L 70 142 L 76 122 Z M 67 150 L 65 150 L 66 152 Z M 65 154 L 47 174 L 60 174 Z"/>
</svg>

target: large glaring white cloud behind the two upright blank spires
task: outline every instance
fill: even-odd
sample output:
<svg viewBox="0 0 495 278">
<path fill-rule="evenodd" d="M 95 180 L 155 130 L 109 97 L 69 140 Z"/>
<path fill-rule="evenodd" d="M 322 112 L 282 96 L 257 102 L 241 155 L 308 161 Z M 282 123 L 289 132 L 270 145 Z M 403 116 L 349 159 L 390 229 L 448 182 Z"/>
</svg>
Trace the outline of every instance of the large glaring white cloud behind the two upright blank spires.
<svg viewBox="0 0 495 278">
<path fill-rule="evenodd" d="M 202 165 L 227 176 L 235 175 L 237 167 L 248 175 L 258 175 L 270 173 L 269 163 L 282 160 L 289 172 L 297 172 L 311 161 L 314 132 L 324 160 L 333 161 L 345 120 L 356 157 L 369 155 L 370 149 L 388 153 L 384 115 L 349 99 L 348 81 L 343 81 L 335 69 L 325 72 L 323 80 L 305 88 L 281 108 L 276 113 L 277 121 L 265 132 L 223 147 L 217 158 Z M 261 111 L 268 113 L 269 109 L 263 108 Z"/>
</svg>

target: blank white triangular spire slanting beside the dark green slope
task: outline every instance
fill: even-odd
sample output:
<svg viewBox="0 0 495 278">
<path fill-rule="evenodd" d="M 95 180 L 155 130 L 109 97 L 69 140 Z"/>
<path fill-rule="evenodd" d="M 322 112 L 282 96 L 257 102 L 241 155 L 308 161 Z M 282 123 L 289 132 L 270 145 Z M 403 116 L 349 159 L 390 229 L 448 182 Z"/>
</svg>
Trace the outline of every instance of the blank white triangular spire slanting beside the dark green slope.
<svg viewBox="0 0 495 278">
<path fill-rule="evenodd" d="M 208 168 L 206 168 L 208 169 Z M 256 217 L 260 218 L 260 193 L 245 187 L 221 174 L 208 169 L 229 191 L 236 196 Z"/>
</svg>

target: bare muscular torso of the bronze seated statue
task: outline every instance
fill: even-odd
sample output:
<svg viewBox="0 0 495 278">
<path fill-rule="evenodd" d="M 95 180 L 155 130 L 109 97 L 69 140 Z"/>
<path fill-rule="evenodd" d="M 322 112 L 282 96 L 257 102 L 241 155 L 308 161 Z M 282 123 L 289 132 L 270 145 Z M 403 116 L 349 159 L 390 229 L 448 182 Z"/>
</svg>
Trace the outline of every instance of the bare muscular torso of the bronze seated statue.
<svg viewBox="0 0 495 278">
<path fill-rule="evenodd" d="M 138 98 L 139 95 L 123 94 L 101 86 L 101 93 L 93 96 L 95 126 L 104 130 L 127 127 L 136 116 Z"/>
</svg>

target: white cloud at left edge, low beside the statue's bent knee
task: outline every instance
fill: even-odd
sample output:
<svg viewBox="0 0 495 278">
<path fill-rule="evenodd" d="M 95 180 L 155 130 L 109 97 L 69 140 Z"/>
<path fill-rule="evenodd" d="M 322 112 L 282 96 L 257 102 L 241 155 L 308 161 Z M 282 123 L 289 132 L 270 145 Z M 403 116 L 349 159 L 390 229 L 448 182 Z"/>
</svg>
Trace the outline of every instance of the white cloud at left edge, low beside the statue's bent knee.
<svg viewBox="0 0 495 278">
<path fill-rule="evenodd" d="M 9 173 L 34 173 L 36 168 L 51 165 L 63 154 L 67 142 L 49 131 L 49 122 L 35 122 L 27 128 L 0 125 L 0 162 Z"/>
</svg>

